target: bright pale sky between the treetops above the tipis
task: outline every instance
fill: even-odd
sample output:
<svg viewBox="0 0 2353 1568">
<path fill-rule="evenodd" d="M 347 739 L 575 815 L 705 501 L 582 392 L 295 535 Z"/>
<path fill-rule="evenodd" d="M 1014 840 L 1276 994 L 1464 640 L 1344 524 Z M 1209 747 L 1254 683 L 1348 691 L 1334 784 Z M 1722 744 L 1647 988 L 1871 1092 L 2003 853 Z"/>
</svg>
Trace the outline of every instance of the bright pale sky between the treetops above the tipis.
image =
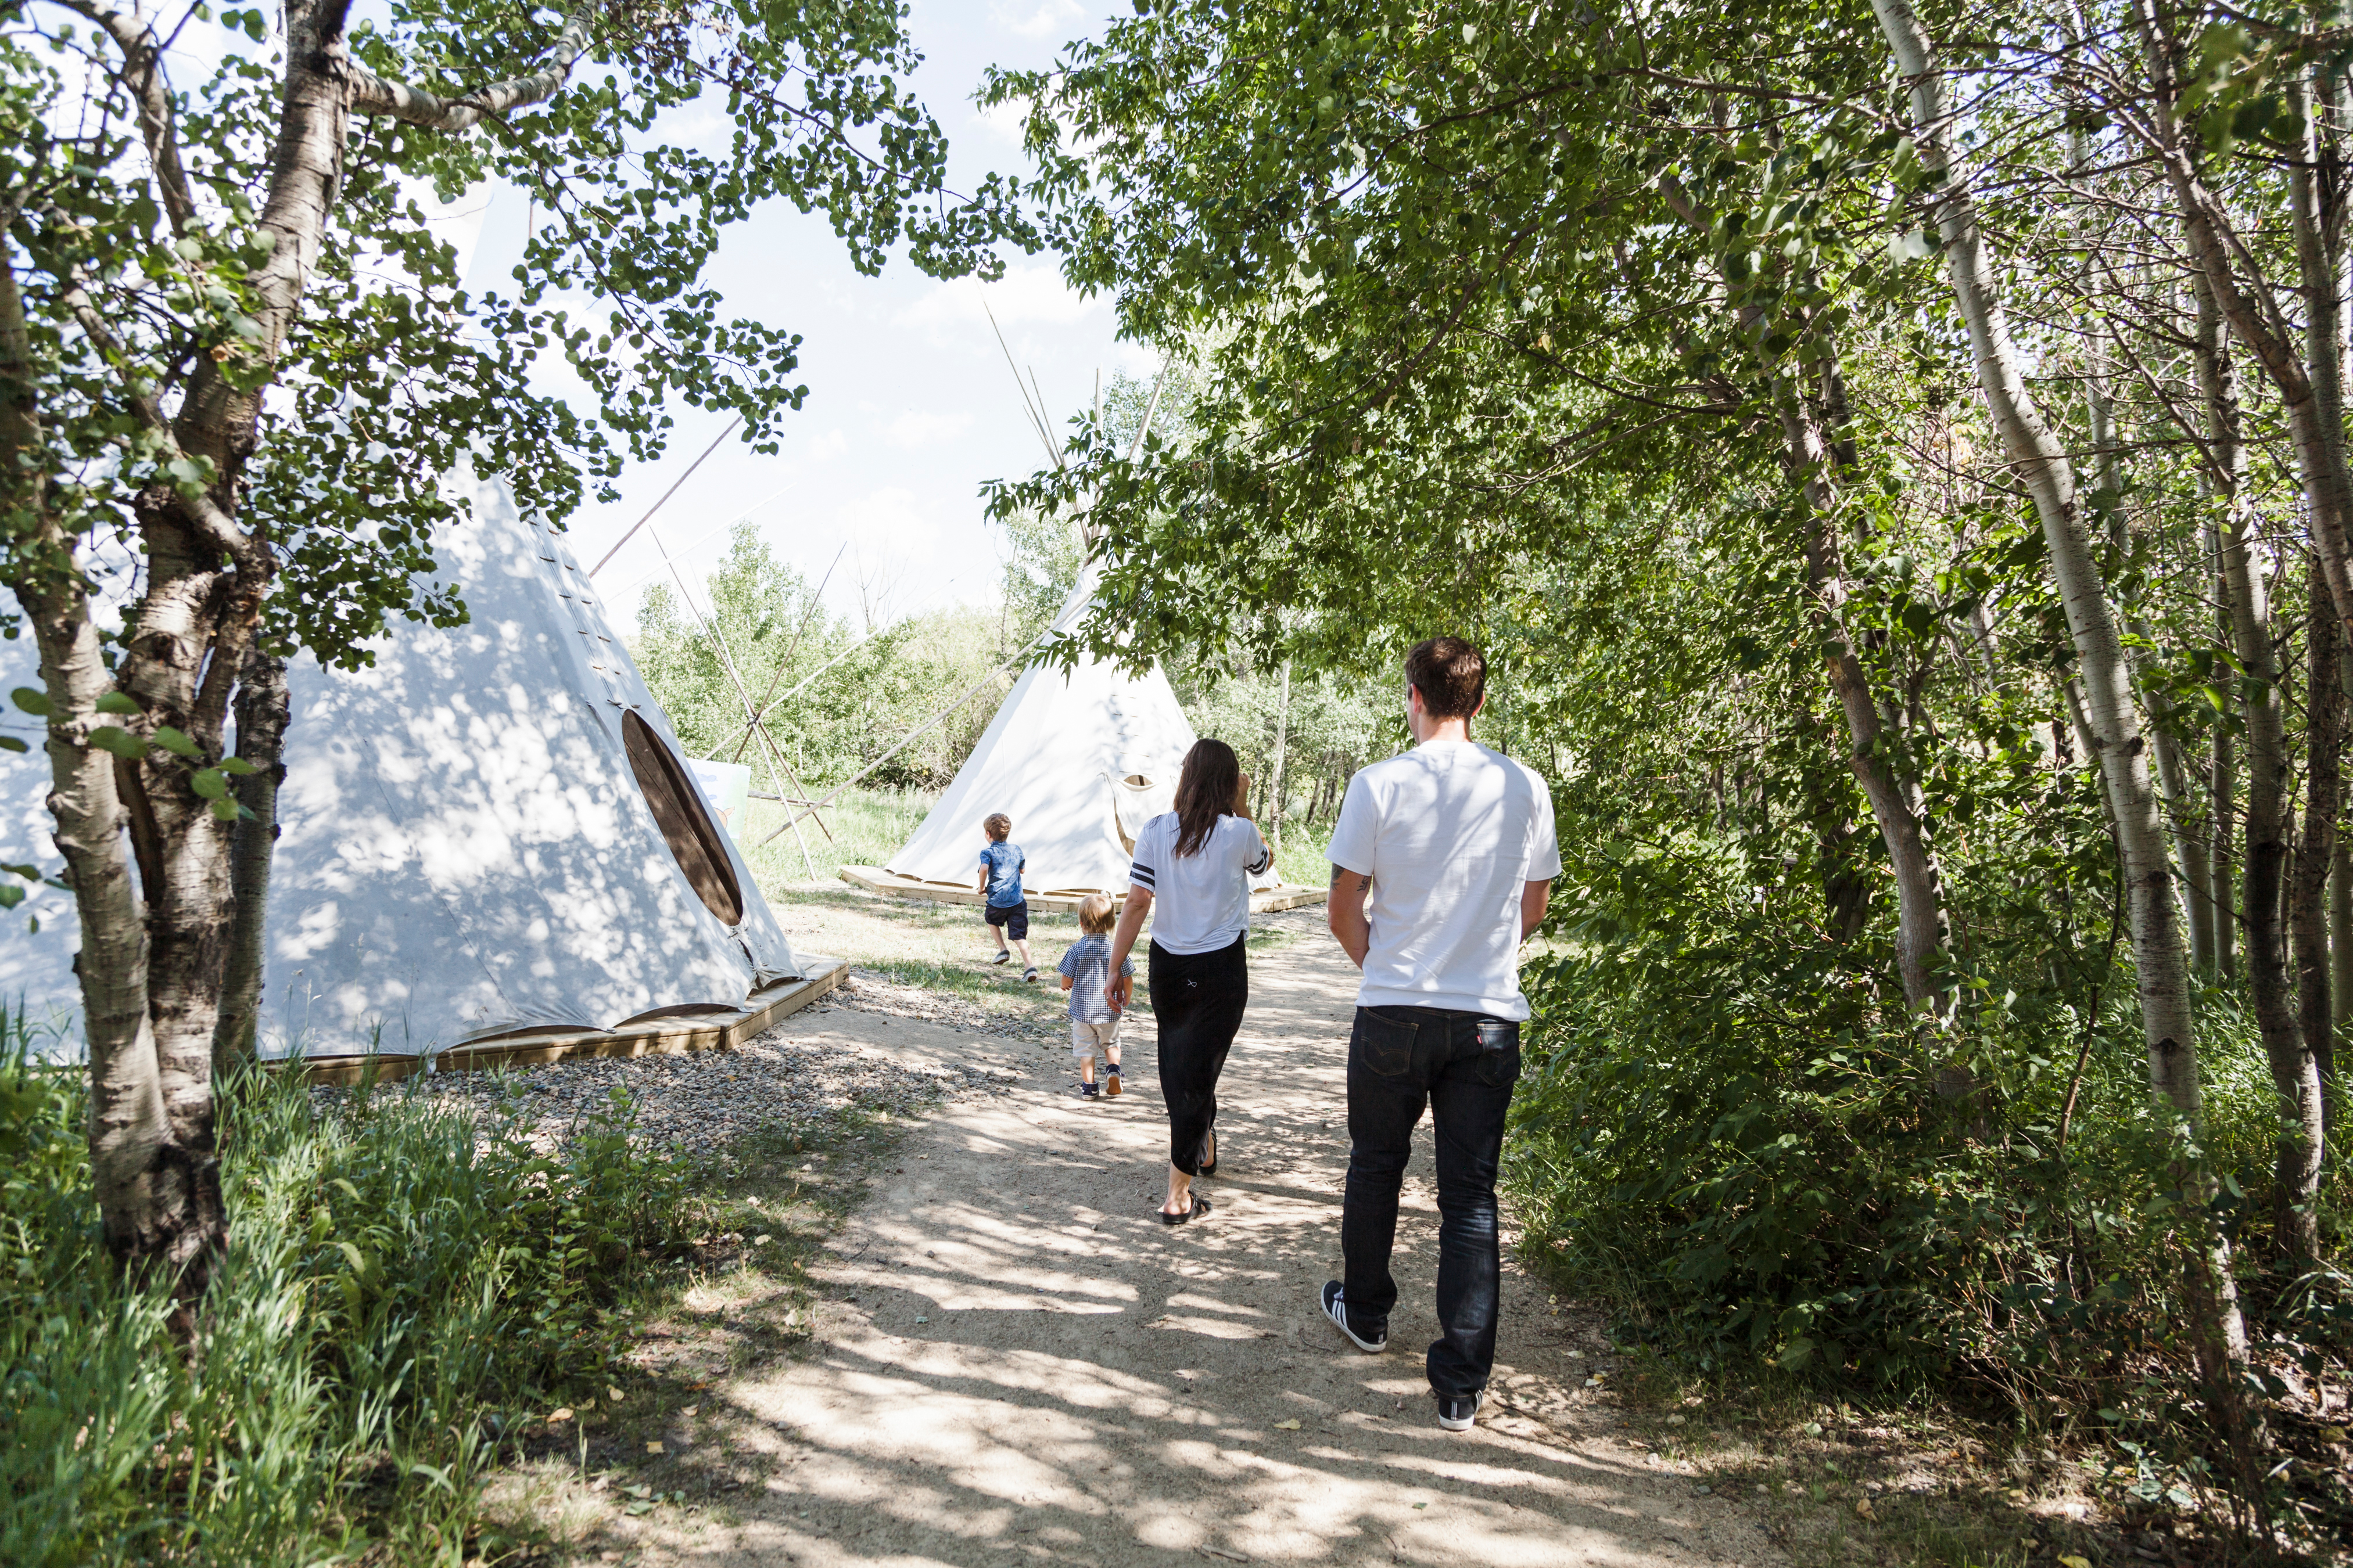
<svg viewBox="0 0 2353 1568">
<path fill-rule="evenodd" d="M 948 132 L 951 186 L 991 169 L 1028 172 L 1012 118 L 984 115 L 972 94 L 991 63 L 1045 66 L 1094 26 L 1080 0 L 915 0 L 908 33 L 925 52 L 913 89 Z M 718 118 L 713 115 L 713 129 Z M 522 249 L 525 212 L 496 197 L 482 219 L 473 275 L 501 277 Z M 809 388 L 784 416 L 776 456 L 729 437 L 654 512 L 649 529 L 704 602 L 701 581 L 727 550 L 729 524 L 751 520 L 774 552 L 854 625 L 967 602 L 993 604 L 1002 531 L 981 510 L 984 480 L 1009 480 L 1047 456 L 1021 411 L 995 310 L 1014 360 L 1035 371 L 1056 440 L 1094 400 L 1096 374 L 1151 378 L 1158 360 L 1115 339 L 1108 299 L 1080 299 L 1049 254 L 1019 256 L 993 284 L 936 282 L 904 259 L 861 277 L 821 214 L 772 202 L 727 230 L 711 282 L 729 315 L 802 336 L 795 378 Z M 565 388 L 553 367 L 548 388 Z M 574 383 L 576 386 L 576 383 Z M 576 400 L 591 411 L 593 404 Z M 621 501 L 569 520 L 572 550 L 595 564 L 727 425 L 727 414 L 675 404 L 678 425 L 659 463 L 621 475 Z M 647 531 L 598 574 L 609 614 L 635 625 L 645 588 L 668 581 Z"/>
</svg>

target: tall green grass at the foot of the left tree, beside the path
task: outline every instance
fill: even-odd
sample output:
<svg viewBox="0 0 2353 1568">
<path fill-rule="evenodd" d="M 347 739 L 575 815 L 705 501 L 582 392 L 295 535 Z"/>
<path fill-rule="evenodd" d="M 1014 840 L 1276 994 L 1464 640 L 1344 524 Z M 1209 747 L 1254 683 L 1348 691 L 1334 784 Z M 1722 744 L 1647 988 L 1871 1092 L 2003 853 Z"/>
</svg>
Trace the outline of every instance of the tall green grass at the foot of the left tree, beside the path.
<svg viewBox="0 0 2353 1568">
<path fill-rule="evenodd" d="M 694 1211 L 621 1098 L 541 1157 L 400 1091 L 315 1114 L 247 1074 L 228 1255 L 179 1333 L 99 1239 L 80 1072 L 0 1027 L 7 1563 L 459 1563 L 501 1439 L 602 1385 L 602 1307 Z"/>
</svg>

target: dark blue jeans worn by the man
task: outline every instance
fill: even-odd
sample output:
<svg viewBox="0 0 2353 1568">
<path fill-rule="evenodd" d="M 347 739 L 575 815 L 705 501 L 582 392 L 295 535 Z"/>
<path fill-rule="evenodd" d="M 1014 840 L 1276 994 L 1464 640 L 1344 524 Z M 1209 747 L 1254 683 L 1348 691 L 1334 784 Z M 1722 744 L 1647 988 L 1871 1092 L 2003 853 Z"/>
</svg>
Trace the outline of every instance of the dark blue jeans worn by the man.
<svg viewBox="0 0 2353 1568">
<path fill-rule="evenodd" d="M 1414 1126 L 1438 1128 L 1438 1333 L 1431 1387 L 1478 1394 L 1494 1368 L 1501 1253 L 1494 1168 L 1504 1112 L 1520 1081 L 1520 1025 L 1435 1006 L 1360 1006 L 1348 1034 L 1348 1197 L 1341 1204 L 1341 1288 L 1348 1321 L 1386 1328 L 1398 1305 L 1388 1253 L 1398 1241 L 1398 1187 Z"/>
</svg>

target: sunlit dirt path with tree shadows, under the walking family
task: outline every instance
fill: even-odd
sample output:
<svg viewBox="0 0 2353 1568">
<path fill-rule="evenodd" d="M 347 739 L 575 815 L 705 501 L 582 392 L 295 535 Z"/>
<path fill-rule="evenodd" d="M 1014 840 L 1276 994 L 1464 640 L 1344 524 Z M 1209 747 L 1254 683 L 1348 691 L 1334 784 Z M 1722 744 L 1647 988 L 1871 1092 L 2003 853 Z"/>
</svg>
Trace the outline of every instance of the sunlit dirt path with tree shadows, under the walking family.
<svg viewBox="0 0 2353 1568">
<path fill-rule="evenodd" d="M 1202 1185 L 1217 1213 L 1179 1229 L 1153 1220 L 1167 1124 L 1148 1020 L 1111 1103 L 1066 1093 L 1061 1046 L 805 1020 L 1024 1081 L 941 1107 L 899 1147 L 819 1269 L 807 1356 L 704 1394 L 772 1479 L 725 1519 L 647 1521 L 640 1561 L 1779 1563 L 1744 1509 L 1614 1439 L 1584 1394 L 1600 1347 L 1508 1265 L 1487 1418 L 1438 1429 L 1426 1121 L 1391 1352 L 1358 1354 L 1315 1316 L 1339 1272 L 1353 994 L 1320 933 L 1252 959 L 1221 1173 Z"/>
</svg>

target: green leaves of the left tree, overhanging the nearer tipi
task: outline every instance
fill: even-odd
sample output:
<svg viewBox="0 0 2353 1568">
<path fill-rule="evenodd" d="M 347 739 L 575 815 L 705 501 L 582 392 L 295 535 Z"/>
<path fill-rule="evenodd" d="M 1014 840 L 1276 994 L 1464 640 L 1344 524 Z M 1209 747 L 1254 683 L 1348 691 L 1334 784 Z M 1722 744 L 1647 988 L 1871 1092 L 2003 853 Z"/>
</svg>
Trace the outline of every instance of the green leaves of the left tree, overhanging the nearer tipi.
<svg viewBox="0 0 2353 1568">
<path fill-rule="evenodd" d="M 0 263 L 21 289 L 19 374 L 42 416 L 24 473 L 45 480 L 66 536 L 125 527 L 146 484 L 214 482 L 214 461 L 181 454 L 148 407 L 167 411 L 191 364 L 219 367 L 238 393 L 280 388 L 240 522 L 278 555 L 273 639 L 329 663 L 365 663 L 358 644 L 386 616 L 461 618 L 454 595 L 414 583 L 433 534 L 461 517 L 445 482 L 464 463 L 506 477 L 525 510 L 565 517 L 588 487 L 609 498 L 624 461 L 661 456 L 673 397 L 739 414 L 744 440 L 774 451 L 779 418 L 807 395 L 793 381 L 800 336 L 727 317 L 706 275 L 720 235 L 760 205 L 824 212 L 866 273 L 904 247 L 934 275 L 993 275 L 991 247 L 1028 233 L 998 181 L 946 190 L 946 136 L 904 87 L 920 54 L 894 0 L 605 5 L 591 54 L 546 103 L 473 132 L 353 118 L 280 341 L 256 277 L 285 237 L 266 202 L 289 66 L 282 31 L 259 16 L 221 14 L 205 80 L 172 73 L 209 49 L 162 56 L 167 162 L 186 169 L 193 207 L 181 212 L 139 148 L 141 73 L 118 45 L 49 7 L 0 5 Z M 456 99 L 539 71 L 569 19 L 412 0 L 358 21 L 348 45 L 376 78 Z M 198 7 L 179 26 L 207 21 Z M 308 28 L 311 9 L 296 21 Z M 87 73 L 52 63 L 82 52 Z M 708 153 L 671 134 L 701 108 L 729 120 Z M 513 277 L 468 294 L 416 197 L 489 183 L 520 193 L 534 223 Z M 586 409 L 534 390 L 548 355 L 588 388 Z M 24 487 L 5 496 L 28 501 Z M 0 543 L 14 548 L 21 522 Z M 0 559 L 9 581 L 54 569 L 38 552 Z"/>
</svg>

